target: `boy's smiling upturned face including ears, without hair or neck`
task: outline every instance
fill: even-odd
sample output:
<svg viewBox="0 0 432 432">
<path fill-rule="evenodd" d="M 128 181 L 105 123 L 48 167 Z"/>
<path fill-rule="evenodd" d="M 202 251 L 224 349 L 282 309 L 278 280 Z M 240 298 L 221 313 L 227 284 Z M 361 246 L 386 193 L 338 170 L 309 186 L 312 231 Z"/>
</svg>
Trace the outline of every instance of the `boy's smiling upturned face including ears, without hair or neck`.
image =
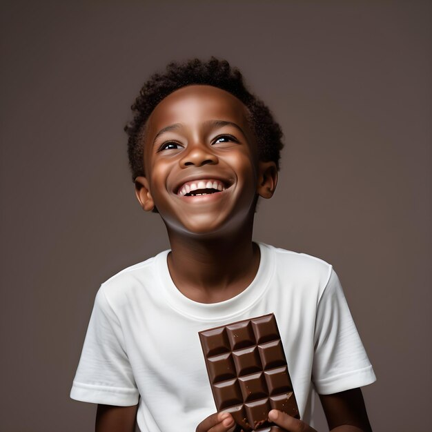
<svg viewBox="0 0 432 432">
<path fill-rule="evenodd" d="M 271 197 L 273 162 L 258 160 L 248 110 L 230 93 L 187 86 L 163 99 L 144 132 L 145 177 L 135 181 L 145 210 L 168 229 L 189 234 L 239 229 L 257 195 Z"/>
</svg>

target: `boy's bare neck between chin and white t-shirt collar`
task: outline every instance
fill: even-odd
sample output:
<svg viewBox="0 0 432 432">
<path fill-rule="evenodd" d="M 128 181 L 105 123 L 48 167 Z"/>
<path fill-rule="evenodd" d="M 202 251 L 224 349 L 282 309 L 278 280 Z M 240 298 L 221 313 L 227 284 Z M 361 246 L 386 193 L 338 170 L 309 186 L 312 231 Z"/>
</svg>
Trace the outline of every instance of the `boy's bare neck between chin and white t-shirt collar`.
<svg viewBox="0 0 432 432">
<path fill-rule="evenodd" d="M 190 236 L 168 228 L 171 253 L 168 268 L 186 297 L 201 303 L 228 300 L 253 281 L 259 267 L 259 248 L 252 242 L 252 224 L 229 236 Z"/>
</svg>

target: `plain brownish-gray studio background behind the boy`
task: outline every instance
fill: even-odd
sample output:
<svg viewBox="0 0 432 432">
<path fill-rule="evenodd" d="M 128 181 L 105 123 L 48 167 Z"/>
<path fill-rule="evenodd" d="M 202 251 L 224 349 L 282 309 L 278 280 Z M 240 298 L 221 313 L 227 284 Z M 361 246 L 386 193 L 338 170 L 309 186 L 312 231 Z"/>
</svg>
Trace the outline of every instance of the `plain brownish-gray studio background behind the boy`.
<svg viewBox="0 0 432 432">
<path fill-rule="evenodd" d="M 97 288 L 168 247 L 135 202 L 128 107 L 168 61 L 210 55 L 285 132 L 255 239 L 333 264 L 378 377 L 375 431 L 430 431 L 430 17 L 426 1 L 3 1 L 1 431 L 92 430 L 68 393 Z"/>
</svg>

